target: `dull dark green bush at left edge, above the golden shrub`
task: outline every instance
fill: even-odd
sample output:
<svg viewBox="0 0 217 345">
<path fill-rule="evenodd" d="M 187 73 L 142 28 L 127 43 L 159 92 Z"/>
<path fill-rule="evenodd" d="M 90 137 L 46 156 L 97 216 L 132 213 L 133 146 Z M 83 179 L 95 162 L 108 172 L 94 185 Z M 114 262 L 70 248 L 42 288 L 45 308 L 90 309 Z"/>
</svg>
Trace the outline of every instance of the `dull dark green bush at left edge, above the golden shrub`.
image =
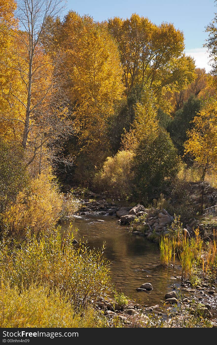
<svg viewBox="0 0 217 345">
<path fill-rule="evenodd" d="M 0 214 L 26 185 L 28 175 L 21 146 L 0 140 Z"/>
</svg>

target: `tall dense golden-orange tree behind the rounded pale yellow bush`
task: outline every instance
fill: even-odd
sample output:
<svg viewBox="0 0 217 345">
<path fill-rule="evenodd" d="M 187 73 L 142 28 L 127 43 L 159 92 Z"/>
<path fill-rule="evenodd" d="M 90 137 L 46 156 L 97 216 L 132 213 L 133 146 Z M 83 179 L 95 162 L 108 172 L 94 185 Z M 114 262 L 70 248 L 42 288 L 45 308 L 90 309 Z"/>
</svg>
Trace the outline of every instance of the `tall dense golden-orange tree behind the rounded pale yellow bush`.
<svg viewBox="0 0 217 345">
<path fill-rule="evenodd" d="M 82 176 L 84 166 L 93 170 L 109 154 L 109 124 L 123 92 L 121 65 L 105 24 L 89 16 L 70 11 L 57 41 L 63 49 L 62 78 L 76 129 L 68 147 L 77 157 L 77 176 Z"/>
</svg>

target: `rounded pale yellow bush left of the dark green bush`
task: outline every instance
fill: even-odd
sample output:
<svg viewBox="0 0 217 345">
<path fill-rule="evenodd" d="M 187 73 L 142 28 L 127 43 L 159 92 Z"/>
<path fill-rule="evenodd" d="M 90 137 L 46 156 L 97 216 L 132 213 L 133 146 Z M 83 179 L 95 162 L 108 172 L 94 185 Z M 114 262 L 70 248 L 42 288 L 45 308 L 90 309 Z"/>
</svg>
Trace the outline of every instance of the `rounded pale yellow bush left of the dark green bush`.
<svg viewBox="0 0 217 345">
<path fill-rule="evenodd" d="M 108 157 L 103 168 L 95 176 L 94 185 L 102 191 L 108 190 L 110 195 L 126 198 L 131 194 L 132 177 L 130 151 L 119 151 L 115 157 Z"/>
</svg>

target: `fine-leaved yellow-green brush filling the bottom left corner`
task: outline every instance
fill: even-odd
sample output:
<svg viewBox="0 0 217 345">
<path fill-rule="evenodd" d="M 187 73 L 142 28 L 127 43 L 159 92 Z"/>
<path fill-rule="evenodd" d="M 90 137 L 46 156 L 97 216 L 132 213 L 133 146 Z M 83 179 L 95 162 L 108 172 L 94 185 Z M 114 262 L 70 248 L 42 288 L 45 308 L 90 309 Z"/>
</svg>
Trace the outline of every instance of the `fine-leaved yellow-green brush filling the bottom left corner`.
<svg viewBox="0 0 217 345">
<path fill-rule="evenodd" d="M 21 293 L 17 287 L 0 288 L 0 327 L 105 327 L 94 309 L 76 314 L 57 289 L 31 285 Z"/>
</svg>

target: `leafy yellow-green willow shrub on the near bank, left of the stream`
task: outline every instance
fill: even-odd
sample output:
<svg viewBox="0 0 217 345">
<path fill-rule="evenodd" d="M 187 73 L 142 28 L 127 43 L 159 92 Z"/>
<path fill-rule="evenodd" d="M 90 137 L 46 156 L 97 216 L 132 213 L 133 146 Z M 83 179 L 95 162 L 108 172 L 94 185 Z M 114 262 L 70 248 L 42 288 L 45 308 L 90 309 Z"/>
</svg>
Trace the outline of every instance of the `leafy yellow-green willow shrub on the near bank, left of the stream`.
<svg viewBox="0 0 217 345">
<path fill-rule="evenodd" d="M 63 235 L 61 227 L 38 238 L 28 232 L 22 242 L 3 234 L 1 280 L 20 292 L 32 284 L 58 290 L 75 309 L 84 308 L 109 289 L 109 266 L 102 254 L 103 249 L 75 248 L 73 233 Z"/>
</svg>

